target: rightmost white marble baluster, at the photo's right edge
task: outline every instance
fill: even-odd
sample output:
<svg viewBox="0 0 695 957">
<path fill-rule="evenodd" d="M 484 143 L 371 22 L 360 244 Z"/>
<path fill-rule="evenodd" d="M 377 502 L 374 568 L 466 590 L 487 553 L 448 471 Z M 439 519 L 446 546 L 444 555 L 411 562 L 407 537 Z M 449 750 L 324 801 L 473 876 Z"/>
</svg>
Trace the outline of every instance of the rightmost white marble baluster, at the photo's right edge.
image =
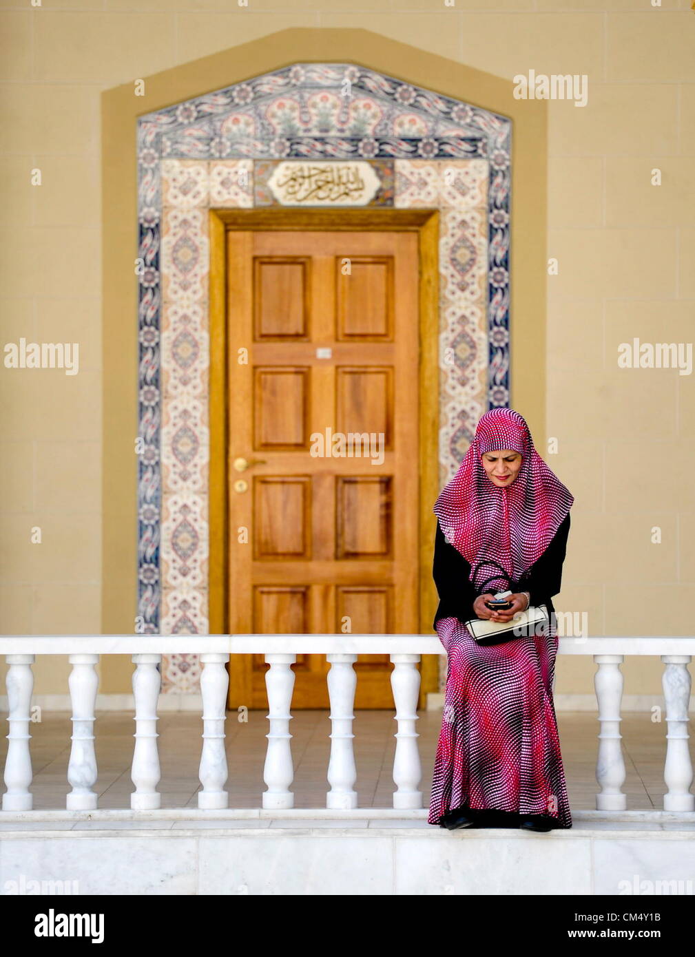
<svg viewBox="0 0 695 957">
<path fill-rule="evenodd" d="M 665 667 L 661 676 L 666 702 L 666 762 L 663 780 L 664 811 L 695 811 L 695 794 L 690 793 L 692 764 L 687 746 L 687 709 L 690 703 L 689 655 L 661 655 Z"/>
</svg>

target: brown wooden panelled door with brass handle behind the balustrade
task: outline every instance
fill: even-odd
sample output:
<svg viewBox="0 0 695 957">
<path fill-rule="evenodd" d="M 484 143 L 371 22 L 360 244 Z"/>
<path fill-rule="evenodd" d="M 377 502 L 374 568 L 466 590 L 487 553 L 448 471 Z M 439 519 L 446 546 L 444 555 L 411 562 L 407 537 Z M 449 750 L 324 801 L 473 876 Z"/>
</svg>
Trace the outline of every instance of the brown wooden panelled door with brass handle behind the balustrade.
<svg viewBox="0 0 695 957">
<path fill-rule="evenodd" d="M 230 231 L 226 255 L 230 632 L 416 634 L 417 234 Z M 328 707 L 327 667 L 298 655 L 293 707 Z M 230 707 L 266 706 L 266 669 L 232 657 Z M 392 707 L 388 655 L 355 670 L 355 706 Z"/>
</svg>

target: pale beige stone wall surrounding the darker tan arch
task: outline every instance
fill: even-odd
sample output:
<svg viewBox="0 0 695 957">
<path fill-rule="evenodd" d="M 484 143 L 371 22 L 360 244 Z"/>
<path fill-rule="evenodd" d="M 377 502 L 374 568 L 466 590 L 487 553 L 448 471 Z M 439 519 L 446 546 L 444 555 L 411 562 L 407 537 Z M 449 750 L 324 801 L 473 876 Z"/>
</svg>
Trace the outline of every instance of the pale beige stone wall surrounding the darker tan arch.
<svg viewBox="0 0 695 957">
<path fill-rule="evenodd" d="M 531 69 L 587 75 L 586 107 L 549 103 L 548 256 L 559 273 L 548 278 L 546 409 L 559 453 L 535 438 L 576 498 L 557 604 L 588 611 L 592 634 L 687 634 L 693 376 L 620 369 L 617 345 L 686 343 L 693 326 L 688 0 L 250 0 L 238 10 L 229 0 L 57 0 L 4 4 L 0 25 L 2 343 L 80 343 L 77 376 L 0 368 L 4 634 L 101 630 L 101 91 L 287 27 L 366 29 L 507 80 Z M 30 185 L 36 167 L 40 187 Z M 655 167 L 661 187 L 650 185 Z M 515 256 L 523 269 L 523 250 Z M 525 317 L 512 322 L 518 340 Z M 655 525 L 661 545 L 650 542 Z M 591 662 L 561 659 L 558 672 L 556 692 L 591 692 Z M 626 693 L 660 692 L 653 662 L 624 672 Z M 35 674 L 37 693 L 66 690 L 64 660 L 44 659 Z M 128 690 L 125 675 L 106 673 L 101 691 Z"/>
</svg>

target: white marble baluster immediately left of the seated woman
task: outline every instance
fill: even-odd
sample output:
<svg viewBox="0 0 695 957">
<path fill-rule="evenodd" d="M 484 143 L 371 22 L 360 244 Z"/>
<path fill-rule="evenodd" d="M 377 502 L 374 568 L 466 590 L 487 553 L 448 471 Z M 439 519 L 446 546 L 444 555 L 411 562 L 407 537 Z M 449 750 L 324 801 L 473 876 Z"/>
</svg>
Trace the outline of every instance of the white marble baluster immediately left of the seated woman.
<svg viewBox="0 0 695 957">
<path fill-rule="evenodd" d="M 421 808 L 422 791 L 417 785 L 422 777 L 420 754 L 417 748 L 419 735 L 415 731 L 417 719 L 417 696 L 420 690 L 420 673 L 415 667 L 419 655 L 392 655 L 393 670 L 391 686 L 395 703 L 395 756 L 393 758 L 393 807 L 399 809 Z"/>
</svg>

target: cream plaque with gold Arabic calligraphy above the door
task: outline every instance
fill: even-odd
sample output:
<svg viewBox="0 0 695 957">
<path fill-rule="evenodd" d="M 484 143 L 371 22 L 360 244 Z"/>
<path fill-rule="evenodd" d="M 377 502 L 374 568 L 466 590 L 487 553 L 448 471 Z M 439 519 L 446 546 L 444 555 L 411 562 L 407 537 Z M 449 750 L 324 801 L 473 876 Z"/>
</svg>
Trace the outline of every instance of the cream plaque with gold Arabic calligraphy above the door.
<svg viewBox="0 0 695 957">
<path fill-rule="evenodd" d="M 365 160 L 283 160 L 268 178 L 268 187 L 282 206 L 366 206 L 380 186 L 376 171 Z"/>
</svg>

